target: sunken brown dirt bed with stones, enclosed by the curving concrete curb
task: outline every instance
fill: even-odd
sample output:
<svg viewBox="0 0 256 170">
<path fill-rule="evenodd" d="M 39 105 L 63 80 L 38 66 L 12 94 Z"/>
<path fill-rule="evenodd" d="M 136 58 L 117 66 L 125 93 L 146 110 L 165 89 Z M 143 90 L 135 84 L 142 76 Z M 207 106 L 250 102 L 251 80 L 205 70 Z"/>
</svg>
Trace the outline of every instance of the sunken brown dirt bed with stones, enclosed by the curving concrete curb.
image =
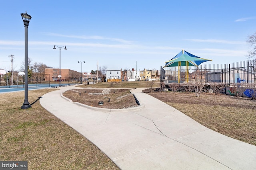
<svg viewBox="0 0 256 170">
<path fill-rule="evenodd" d="M 107 108 L 107 109 L 124 109 L 139 106 L 134 96 L 130 93 L 131 89 L 76 89 L 68 90 L 63 96 L 72 100 L 86 104 L 88 106 Z M 98 103 L 102 101 L 103 105 Z"/>
</svg>

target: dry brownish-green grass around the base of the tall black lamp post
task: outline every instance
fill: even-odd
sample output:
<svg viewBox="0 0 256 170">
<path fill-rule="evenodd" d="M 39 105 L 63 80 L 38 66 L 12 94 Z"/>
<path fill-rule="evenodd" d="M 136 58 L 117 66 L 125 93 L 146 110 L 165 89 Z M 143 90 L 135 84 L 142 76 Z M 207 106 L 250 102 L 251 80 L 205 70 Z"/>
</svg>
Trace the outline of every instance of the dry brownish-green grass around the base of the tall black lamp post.
<svg viewBox="0 0 256 170">
<path fill-rule="evenodd" d="M 53 89 L 0 94 L 0 160 L 27 160 L 28 169 L 98 170 L 118 167 L 95 145 L 40 106 Z"/>
</svg>

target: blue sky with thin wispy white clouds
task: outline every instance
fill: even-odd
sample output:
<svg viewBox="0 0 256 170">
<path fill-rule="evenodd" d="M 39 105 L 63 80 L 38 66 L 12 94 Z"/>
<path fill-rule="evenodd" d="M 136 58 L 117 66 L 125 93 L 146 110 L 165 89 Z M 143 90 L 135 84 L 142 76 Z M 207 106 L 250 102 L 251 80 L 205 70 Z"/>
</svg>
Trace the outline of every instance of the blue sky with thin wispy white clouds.
<svg viewBox="0 0 256 170">
<path fill-rule="evenodd" d="M 53 68 L 160 70 L 182 49 L 212 60 L 205 64 L 247 61 L 255 6 L 255 0 L 1 1 L 0 69 L 12 69 L 10 55 L 13 70 L 24 63 L 25 12 L 32 16 L 28 57 Z"/>
</svg>

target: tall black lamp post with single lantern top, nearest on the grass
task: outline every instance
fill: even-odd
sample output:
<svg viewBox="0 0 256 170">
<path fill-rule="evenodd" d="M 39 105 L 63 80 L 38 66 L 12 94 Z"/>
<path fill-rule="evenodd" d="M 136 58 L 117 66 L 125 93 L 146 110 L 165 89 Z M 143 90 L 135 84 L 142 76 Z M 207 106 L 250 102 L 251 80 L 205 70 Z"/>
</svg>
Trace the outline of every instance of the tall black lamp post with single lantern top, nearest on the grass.
<svg viewBox="0 0 256 170">
<path fill-rule="evenodd" d="M 25 99 L 23 105 L 20 107 L 21 109 L 30 108 L 30 104 L 28 102 L 28 23 L 31 20 L 31 16 L 27 14 L 20 14 L 25 27 Z"/>
</svg>

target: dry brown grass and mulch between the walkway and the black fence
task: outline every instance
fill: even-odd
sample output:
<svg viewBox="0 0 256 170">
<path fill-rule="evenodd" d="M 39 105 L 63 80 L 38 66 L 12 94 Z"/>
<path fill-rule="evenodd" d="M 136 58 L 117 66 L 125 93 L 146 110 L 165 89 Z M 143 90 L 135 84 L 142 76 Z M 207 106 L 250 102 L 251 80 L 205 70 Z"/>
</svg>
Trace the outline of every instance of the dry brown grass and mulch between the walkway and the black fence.
<svg viewBox="0 0 256 170">
<path fill-rule="evenodd" d="M 256 101 L 224 94 L 147 93 L 223 135 L 256 145 Z"/>
</svg>

